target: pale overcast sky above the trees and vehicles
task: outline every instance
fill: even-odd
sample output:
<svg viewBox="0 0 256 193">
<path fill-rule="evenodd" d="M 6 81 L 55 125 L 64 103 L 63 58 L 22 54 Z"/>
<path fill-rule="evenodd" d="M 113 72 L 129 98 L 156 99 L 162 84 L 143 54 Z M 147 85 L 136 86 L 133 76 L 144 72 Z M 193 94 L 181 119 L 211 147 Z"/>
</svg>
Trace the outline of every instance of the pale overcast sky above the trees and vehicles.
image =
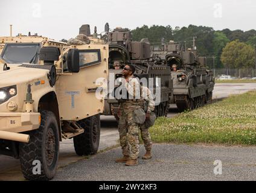
<svg viewBox="0 0 256 193">
<path fill-rule="evenodd" d="M 32 34 L 56 40 L 78 34 L 82 24 L 97 26 L 98 33 L 110 28 L 134 29 L 142 25 L 190 24 L 248 31 L 256 29 L 256 1 L 252 0 L 0 0 L 0 36 Z"/>
</svg>

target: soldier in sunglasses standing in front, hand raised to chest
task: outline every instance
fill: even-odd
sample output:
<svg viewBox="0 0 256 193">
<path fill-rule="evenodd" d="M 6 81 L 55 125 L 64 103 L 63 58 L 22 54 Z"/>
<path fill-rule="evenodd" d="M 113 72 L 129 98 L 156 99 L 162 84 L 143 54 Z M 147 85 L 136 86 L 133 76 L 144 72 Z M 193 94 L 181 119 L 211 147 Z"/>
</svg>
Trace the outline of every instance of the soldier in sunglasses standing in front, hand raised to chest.
<svg viewBox="0 0 256 193">
<path fill-rule="evenodd" d="M 139 123 L 136 120 L 135 111 L 141 110 L 143 112 L 139 106 L 140 85 L 138 80 L 133 77 L 134 72 L 135 68 L 132 65 L 126 65 L 123 69 L 123 77 L 126 79 L 125 87 L 129 96 L 132 97 L 121 101 L 118 112 L 120 115 L 118 131 L 120 133 L 120 145 L 123 150 L 123 157 L 115 161 L 117 163 L 125 162 L 127 166 L 138 165 Z"/>
</svg>

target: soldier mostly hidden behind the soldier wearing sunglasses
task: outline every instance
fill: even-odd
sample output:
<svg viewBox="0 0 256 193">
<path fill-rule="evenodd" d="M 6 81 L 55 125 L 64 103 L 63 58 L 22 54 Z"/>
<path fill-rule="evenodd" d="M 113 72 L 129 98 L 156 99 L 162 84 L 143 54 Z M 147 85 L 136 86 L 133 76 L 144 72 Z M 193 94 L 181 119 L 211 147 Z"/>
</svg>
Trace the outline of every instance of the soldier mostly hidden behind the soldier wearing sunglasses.
<svg viewBox="0 0 256 193">
<path fill-rule="evenodd" d="M 141 130 L 141 138 L 146 149 L 146 154 L 142 156 L 142 159 L 151 159 L 152 141 L 149 133 L 149 127 L 152 125 L 152 123 L 150 123 L 150 121 L 152 121 L 152 116 L 155 116 L 153 112 L 155 110 L 155 102 L 153 100 L 152 93 L 147 87 L 142 86 L 141 91 L 140 105 L 146 112 L 146 121 L 139 127 Z M 153 121 L 155 121 L 155 119 L 153 119 Z"/>
</svg>

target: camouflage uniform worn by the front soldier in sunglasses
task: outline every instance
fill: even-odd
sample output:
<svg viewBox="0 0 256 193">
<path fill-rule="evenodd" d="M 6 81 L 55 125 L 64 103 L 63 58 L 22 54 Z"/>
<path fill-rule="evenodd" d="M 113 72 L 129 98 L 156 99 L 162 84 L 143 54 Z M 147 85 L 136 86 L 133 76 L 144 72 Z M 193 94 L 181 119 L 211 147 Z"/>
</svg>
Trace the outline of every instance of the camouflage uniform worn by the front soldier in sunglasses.
<svg viewBox="0 0 256 193">
<path fill-rule="evenodd" d="M 134 84 L 133 84 L 134 83 Z M 138 87 L 135 87 L 136 86 Z M 139 106 L 140 100 L 135 99 L 134 96 L 139 97 L 139 83 L 136 78 L 133 76 L 130 77 L 129 83 L 126 83 L 126 89 L 130 96 L 133 96 L 133 99 L 123 100 L 120 103 L 121 116 L 118 122 L 118 130 L 120 133 L 120 145 L 123 150 L 124 157 L 129 157 L 130 159 L 136 160 L 139 155 L 139 120 L 142 118 L 145 113 L 144 110 Z M 139 112 L 139 113 L 138 113 Z M 144 113 L 142 115 L 140 112 Z M 130 145 L 130 147 L 129 147 Z M 118 161 L 117 162 L 121 162 Z"/>
</svg>

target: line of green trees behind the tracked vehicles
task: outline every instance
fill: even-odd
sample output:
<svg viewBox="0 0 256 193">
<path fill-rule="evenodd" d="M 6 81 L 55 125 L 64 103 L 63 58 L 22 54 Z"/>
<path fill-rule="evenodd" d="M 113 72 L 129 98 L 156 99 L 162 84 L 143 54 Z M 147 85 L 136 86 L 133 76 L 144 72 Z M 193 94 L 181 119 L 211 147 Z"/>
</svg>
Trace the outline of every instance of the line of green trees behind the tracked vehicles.
<svg viewBox="0 0 256 193">
<path fill-rule="evenodd" d="M 170 25 L 143 25 L 132 30 L 133 40 L 139 41 L 145 37 L 152 45 L 161 45 L 170 40 L 181 43 L 184 48 L 193 47 L 193 37 L 199 55 L 206 56 L 211 63 L 213 56 L 215 68 L 256 68 L 255 46 L 256 30 L 224 30 L 215 31 L 212 27 L 189 25 L 175 27 Z"/>
</svg>

